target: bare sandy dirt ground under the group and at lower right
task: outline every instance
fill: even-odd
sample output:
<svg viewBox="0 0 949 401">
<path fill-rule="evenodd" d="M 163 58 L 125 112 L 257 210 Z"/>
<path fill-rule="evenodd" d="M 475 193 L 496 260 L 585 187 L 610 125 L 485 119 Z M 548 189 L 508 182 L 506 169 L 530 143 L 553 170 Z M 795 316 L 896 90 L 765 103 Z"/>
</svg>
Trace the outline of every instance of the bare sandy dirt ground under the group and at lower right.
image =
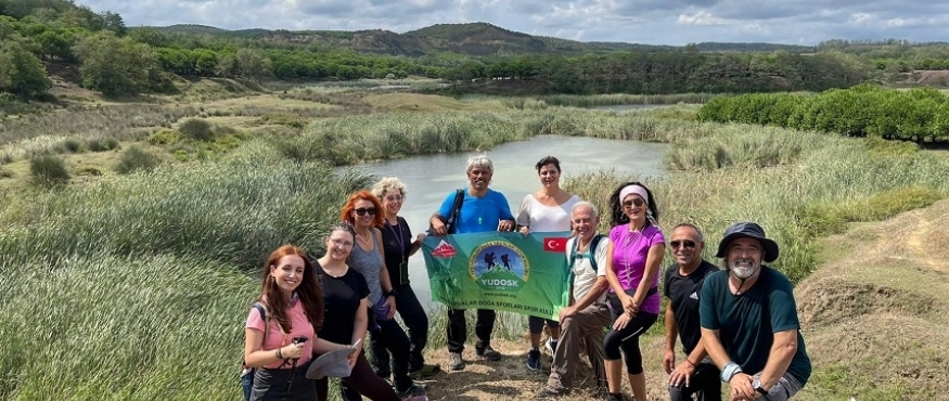
<svg viewBox="0 0 949 401">
<path fill-rule="evenodd" d="M 949 199 L 823 242 L 819 269 L 795 289 L 815 372 L 796 400 L 947 400 L 949 383 Z M 526 327 L 525 327 L 526 328 Z M 643 338 L 650 399 L 668 399 L 662 327 Z M 472 336 L 473 337 L 473 336 Z M 473 338 L 472 338 L 473 340 Z M 431 400 L 533 400 L 550 373 L 525 366 L 527 340 L 496 340 L 499 362 L 475 360 L 426 383 Z M 429 349 L 447 368 L 448 352 Z M 595 399 L 587 366 L 564 401 Z M 727 386 L 726 386 L 727 387 Z M 631 394 L 629 384 L 624 392 Z"/>
</svg>

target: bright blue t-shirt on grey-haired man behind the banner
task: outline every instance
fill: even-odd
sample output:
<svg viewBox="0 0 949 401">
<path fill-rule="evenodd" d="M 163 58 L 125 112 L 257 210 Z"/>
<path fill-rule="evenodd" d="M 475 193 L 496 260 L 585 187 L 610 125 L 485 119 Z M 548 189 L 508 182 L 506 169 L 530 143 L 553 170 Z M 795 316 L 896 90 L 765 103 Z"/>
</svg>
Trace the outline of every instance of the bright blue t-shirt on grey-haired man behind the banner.
<svg viewBox="0 0 949 401">
<path fill-rule="evenodd" d="M 467 193 L 467 189 L 462 193 L 464 202 L 461 204 L 461 212 L 458 217 L 458 234 L 498 231 L 498 224 L 501 220 L 514 220 L 511 206 L 508 205 L 508 198 L 500 192 L 488 189 L 488 193 L 482 197 L 472 196 Z M 441 203 L 438 215 L 448 218 L 451 216 L 451 206 L 453 205 L 454 192 Z"/>
</svg>

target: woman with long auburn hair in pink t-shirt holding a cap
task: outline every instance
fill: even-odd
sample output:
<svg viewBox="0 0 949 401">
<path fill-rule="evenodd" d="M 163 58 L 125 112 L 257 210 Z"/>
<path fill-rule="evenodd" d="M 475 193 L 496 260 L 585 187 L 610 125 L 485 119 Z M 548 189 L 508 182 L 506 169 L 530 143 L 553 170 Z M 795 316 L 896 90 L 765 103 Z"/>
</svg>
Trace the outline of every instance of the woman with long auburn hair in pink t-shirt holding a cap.
<svg viewBox="0 0 949 401">
<path fill-rule="evenodd" d="M 244 363 L 256 368 L 249 399 L 316 399 L 313 381 L 306 378 L 312 353 L 347 346 L 317 337 L 323 295 L 300 248 L 284 245 L 270 254 L 257 302 L 261 308 L 251 308 L 244 331 Z"/>
</svg>

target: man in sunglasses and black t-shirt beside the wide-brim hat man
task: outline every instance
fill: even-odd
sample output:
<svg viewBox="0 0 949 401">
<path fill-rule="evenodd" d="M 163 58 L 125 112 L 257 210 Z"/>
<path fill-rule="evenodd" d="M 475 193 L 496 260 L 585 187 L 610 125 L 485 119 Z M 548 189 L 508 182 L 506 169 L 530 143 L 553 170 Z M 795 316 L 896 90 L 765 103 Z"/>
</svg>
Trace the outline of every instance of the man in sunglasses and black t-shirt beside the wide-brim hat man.
<svg viewBox="0 0 949 401">
<path fill-rule="evenodd" d="M 721 384 L 718 367 L 708 359 L 702 345 L 702 328 L 698 320 L 698 294 L 705 276 L 718 268 L 702 259 L 705 242 L 697 227 L 682 223 L 672 229 L 669 249 L 676 257 L 665 275 L 664 295 L 666 305 L 666 351 L 663 366 L 669 374 L 669 397 L 672 401 L 721 400 Z M 676 337 L 682 339 L 685 360 L 676 364 Z"/>
</svg>

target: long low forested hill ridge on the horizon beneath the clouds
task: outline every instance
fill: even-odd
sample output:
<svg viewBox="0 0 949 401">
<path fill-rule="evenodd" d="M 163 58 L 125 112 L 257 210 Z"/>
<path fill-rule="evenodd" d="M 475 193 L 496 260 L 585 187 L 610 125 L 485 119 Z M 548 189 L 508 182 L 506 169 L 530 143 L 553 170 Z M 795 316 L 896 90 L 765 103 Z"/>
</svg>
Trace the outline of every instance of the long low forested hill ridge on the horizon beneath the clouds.
<svg viewBox="0 0 949 401">
<path fill-rule="evenodd" d="M 458 53 L 473 56 L 505 56 L 520 54 L 563 54 L 610 51 L 775 51 L 812 52 L 813 47 L 780 43 L 702 42 L 684 47 L 626 42 L 581 42 L 546 36 L 531 36 L 487 23 L 436 24 L 397 34 L 390 30 L 227 30 L 206 25 L 171 25 L 154 27 L 165 34 L 211 35 L 229 38 L 267 40 L 293 44 L 316 43 L 322 49 L 351 50 L 358 53 L 422 56 L 436 53 Z"/>
</svg>

